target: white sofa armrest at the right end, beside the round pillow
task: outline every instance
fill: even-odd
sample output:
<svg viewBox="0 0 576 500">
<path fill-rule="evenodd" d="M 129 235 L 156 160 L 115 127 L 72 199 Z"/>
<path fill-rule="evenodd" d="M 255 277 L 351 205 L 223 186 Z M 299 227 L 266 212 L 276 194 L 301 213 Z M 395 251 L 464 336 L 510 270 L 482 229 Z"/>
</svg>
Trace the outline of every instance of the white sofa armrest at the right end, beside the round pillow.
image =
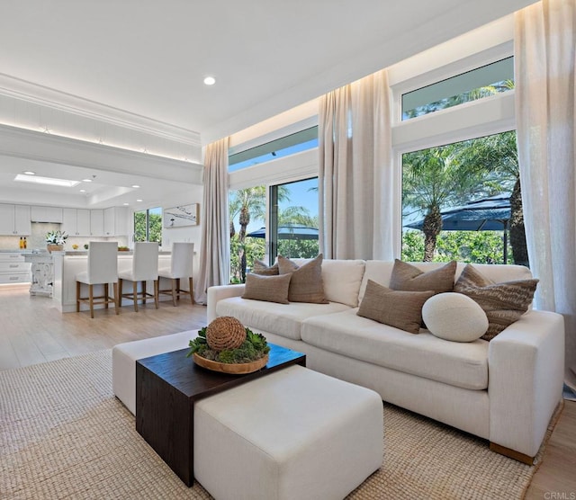
<svg viewBox="0 0 576 500">
<path fill-rule="evenodd" d="M 532 310 L 488 349 L 490 441 L 534 457 L 562 397 L 564 318 Z"/>
</svg>

